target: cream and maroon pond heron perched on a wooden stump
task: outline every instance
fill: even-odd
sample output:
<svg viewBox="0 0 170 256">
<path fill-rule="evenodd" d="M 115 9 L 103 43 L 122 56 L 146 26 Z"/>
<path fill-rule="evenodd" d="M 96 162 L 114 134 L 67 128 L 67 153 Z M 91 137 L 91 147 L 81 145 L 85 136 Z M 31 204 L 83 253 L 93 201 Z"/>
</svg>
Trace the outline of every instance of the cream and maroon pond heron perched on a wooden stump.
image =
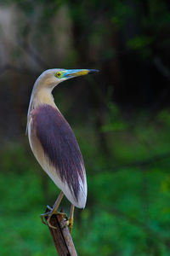
<svg viewBox="0 0 170 256">
<path fill-rule="evenodd" d="M 71 202 L 70 217 L 67 224 L 72 230 L 74 208 L 84 208 L 87 201 L 87 177 L 82 153 L 77 138 L 59 108 L 55 105 L 52 91 L 61 82 L 88 73 L 97 73 L 96 69 L 52 68 L 44 71 L 36 80 L 27 113 L 26 133 L 31 151 L 42 169 L 61 190 L 53 207 L 41 214 L 42 222 L 50 228 L 53 214 L 59 212 L 59 204 L 64 195 Z M 47 217 L 47 221 L 43 217 Z"/>
</svg>

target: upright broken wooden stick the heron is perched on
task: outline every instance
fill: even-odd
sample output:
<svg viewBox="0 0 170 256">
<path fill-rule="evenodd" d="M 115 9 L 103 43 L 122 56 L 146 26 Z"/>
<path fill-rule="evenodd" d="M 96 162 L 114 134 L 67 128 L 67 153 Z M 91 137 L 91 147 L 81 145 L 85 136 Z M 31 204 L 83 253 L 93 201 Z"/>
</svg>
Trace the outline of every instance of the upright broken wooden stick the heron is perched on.
<svg viewBox="0 0 170 256">
<path fill-rule="evenodd" d="M 48 212 L 48 209 L 46 212 Z M 48 227 L 59 256 L 77 256 L 77 251 L 71 238 L 71 233 L 66 225 L 63 215 L 53 215 L 50 219 L 50 223 L 57 228 L 52 229 Z"/>
</svg>

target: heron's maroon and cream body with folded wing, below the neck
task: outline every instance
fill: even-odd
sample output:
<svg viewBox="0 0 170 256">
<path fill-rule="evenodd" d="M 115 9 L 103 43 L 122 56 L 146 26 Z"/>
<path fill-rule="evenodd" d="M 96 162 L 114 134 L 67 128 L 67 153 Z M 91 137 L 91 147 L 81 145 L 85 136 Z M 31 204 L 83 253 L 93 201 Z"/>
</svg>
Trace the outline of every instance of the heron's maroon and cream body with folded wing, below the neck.
<svg viewBox="0 0 170 256">
<path fill-rule="evenodd" d="M 33 109 L 28 123 L 31 149 L 43 170 L 76 207 L 87 199 L 86 172 L 77 139 L 57 108 Z"/>
</svg>

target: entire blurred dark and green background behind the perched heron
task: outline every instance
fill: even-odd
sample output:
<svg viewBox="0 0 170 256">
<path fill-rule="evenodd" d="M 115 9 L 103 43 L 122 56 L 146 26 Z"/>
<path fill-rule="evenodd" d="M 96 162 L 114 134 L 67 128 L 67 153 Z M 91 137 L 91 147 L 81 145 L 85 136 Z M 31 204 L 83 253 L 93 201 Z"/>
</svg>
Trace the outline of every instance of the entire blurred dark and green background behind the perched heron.
<svg viewBox="0 0 170 256">
<path fill-rule="evenodd" d="M 25 134 L 32 86 L 54 67 L 100 71 L 54 90 L 87 169 L 78 255 L 170 254 L 169 60 L 169 1 L 0 1 L 2 256 L 56 254 L 39 214 L 59 189 Z"/>
</svg>

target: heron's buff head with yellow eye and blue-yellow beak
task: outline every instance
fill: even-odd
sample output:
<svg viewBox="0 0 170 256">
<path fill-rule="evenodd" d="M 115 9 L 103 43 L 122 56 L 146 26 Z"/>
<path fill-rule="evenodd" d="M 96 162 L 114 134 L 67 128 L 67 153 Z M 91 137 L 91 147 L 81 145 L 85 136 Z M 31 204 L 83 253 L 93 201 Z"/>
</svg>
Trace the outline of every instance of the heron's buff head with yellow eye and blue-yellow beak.
<svg viewBox="0 0 170 256">
<path fill-rule="evenodd" d="M 84 76 L 88 73 L 98 73 L 99 70 L 96 69 L 62 69 L 53 68 L 44 71 L 37 79 L 37 84 L 41 84 L 45 87 L 54 89 L 54 87 L 67 80 L 73 79 L 75 77 Z"/>
</svg>

